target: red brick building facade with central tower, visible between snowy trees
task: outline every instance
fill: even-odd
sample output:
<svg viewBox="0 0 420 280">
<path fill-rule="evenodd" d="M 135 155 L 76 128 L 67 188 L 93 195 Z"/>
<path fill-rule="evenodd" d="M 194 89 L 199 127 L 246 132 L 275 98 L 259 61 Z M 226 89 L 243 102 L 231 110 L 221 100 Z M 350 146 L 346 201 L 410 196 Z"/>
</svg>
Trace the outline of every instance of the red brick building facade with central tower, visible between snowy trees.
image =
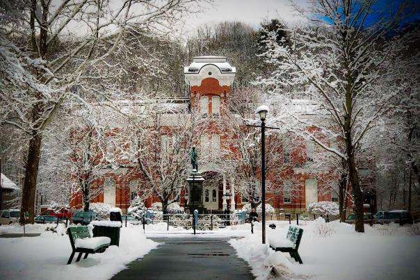
<svg viewBox="0 0 420 280">
<path fill-rule="evenodd" d="M 223 63 L 222 63 L 223 64 Z M 221 64 L 220 64 L 221 65 Z M 202 63 L 198 72 L 189 72 L 186 69 L 185 73 L 188 76 L 190 83 L 190 108 L 191 110 L 203 110 L 200 106 L 207 104 L 207 112 L 204 117 L 209 117 L 209 124 L 204 129 L 205 142 L 212 145 L 219 145 L 220 151 L 223 151 L 222 157 L 226 160 L 229 158 L 240 158 L 239 152 L 232 145 L 232 142 L 237 138 L 235 131 L 227 124 L 227 120 L 231 117 L 228 111 L 227 100 L 231 91 L 231 84 L 236 69 L 233 67 L 231 72 L 223 72 L 217 63 Z M 206 68 L 208 67 L 208 69 Z M 227 76 L 227 78 L 225 78 Z M 193 83 L 193 84 L 191 84 Z M 203 99 L 202 97 L 208 97 Z M 216 98 L 213 98 L 216 97 Z M 200 103 L 202 102 L 202 103 Z M 213 104 L 213 102 L 215 104 Z M 216 104 L 218 103 L 218 104 Z M 220 111 L 217 115 L 217 110 Z M 207 115 L 206 115 L 207 114 Z M 169 128 L 170 129 L 170 128 Z M 280 136 L 270 136 L 280 137 Z M 219 142 L 217 142 L 217 140 Z M 215 144 L 216 143 L 216 144 Z M 218 144 L 217 144 L 218 143 Z M 200 151 L 200 142 L 197 147 Z M 213 147 L 213 146 L 212 146 Z M 332 175 L 331 170 L 318 172 L 307 172 L 305 165 L 307 163 L 307 154 L 305 151 L 305 141 L 299 138 L 293 139 L 293 149 L 291 149 L 290 160 L 284 159 L 280 156 L 279 162 L 276 167 L 270 169 L 267 173 L 267 181 L 269 183 L 267 203 L 271 204 L 274 208 L 283 209 L 285 213 L 300 213 L 307 208 L 307 197 L 312 201 L 331 201 L 332 195 L 330 191 L 330 182 L 337 181 L 337 177 Z M 283 150 L 278 151 L 280 155 L 284 155 Z M 214 155 L 216 156 L 216 155 Z M 211 159 L 209 160 L 211 161 Z M 199 167 L 202 170 L 204 178 L 211 178 L 220 174 L 218 168 L 211 165 L 210 162 L 199 162 Z M 201 171 L 201 170 L 200 170 Z M 259 170 L 257 170 L 259 173 Z M 229 206 L 232 208 L 242 208 L 245 202 L 242 201 L 240 195 L 240 188 L 237 186 L 239 183 L 235 178 L 229 177 L 229 174 L 222 174 L 220 179 L 213 182 L 209 188 L 216 189 L 217 201 L 209 201 L 209 205 L 213 203 L 213 210 L 223 210 L 226 208 L 227 201 L 222 199 L 223 193 L 230 190 L 234 194 L 234 199 L 229 201 Z M 115 182 L 115 206 L 122 208 L 123 211 L 129 207 L 130 201 L 130 182 L 135 179 L 140 179 L 140 172 L 133 167 L 126 172 L 118 172 L 118 174 L 106 174 L 106 178 L 111 178 Z M 94 186 L 103 186 L 105 177 L 95 181 Z M 283 186 L 285 183 L 291 183 L 291 197 L 290 201 L 285 201 Z M 311 185 L 312 184 L 312 185 Z M 94 187 L 95 188 L 95 187 Z M 309 189 L 312 188 L 309 194 Z M 307 193 L 308 192 L 308 193 Z M 113 192 L 111 192 L 113 194 Z M 211 200 L 211 199 L 210 199 Z M 106 202 L 104 193 L 100 193 L 91 200 L 92 202 Z M 145 201 L 145 206 L 150 207 L 152 202 L 158 201 L 155 197 L 149 197 Z M 180 205 L 186 204 L 184 191 L 181 193 L 179 199 Z M 71 202 L 73 207 L 80 208 L 82 206 L 81 194 L 74 194 Z"/>
</svg>

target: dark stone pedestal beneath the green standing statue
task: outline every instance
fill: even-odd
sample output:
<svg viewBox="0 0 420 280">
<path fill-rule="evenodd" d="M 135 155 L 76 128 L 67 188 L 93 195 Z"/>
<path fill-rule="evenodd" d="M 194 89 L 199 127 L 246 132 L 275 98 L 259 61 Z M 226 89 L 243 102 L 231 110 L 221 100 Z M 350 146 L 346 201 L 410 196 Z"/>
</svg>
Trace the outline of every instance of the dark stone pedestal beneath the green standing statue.
<svg viewBox="0 0 420 280">
<path fill-rule="evenodd" d="M 202 201 L 202 191 L 203 191 L 203 182 L 204 178 L 201 176 L 200 172 L 193 170 L 188 178 L 188 204 L 187 208 L 190 213 L 194 213 L 194 210 L 197 209 L 199 214 L 204 213 L 206 208 L 203 207 Z"/>
</svg>

